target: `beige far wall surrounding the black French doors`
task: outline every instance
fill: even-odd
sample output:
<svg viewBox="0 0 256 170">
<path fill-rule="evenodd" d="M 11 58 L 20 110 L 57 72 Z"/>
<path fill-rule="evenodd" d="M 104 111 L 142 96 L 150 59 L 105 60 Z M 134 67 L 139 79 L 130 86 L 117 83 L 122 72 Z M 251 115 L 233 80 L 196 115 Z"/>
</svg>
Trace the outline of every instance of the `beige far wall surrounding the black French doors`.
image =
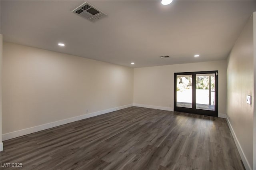
<svg viewBox="0 0 256 170">
<path fill-rule="evenodd" d="M 174 107 L 174 73 L 218 70 L 218 113 L 226 114 L 226 60 L 134 69 L 134 103 Z M 170 106 L 171 105 L 171 106 Z"/>
</svg>

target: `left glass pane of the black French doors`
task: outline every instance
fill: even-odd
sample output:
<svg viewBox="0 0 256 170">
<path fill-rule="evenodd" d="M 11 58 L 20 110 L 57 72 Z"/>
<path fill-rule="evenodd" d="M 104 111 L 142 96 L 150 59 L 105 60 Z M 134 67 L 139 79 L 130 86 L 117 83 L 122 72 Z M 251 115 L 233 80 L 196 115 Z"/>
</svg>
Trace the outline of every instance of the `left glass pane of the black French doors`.
<svg viewBox="0 0 256 170">
<path fill-rule="evenodd" d="M 192 108 L 192 75 L 177 75 L 176 106 Z"/>
</svg>

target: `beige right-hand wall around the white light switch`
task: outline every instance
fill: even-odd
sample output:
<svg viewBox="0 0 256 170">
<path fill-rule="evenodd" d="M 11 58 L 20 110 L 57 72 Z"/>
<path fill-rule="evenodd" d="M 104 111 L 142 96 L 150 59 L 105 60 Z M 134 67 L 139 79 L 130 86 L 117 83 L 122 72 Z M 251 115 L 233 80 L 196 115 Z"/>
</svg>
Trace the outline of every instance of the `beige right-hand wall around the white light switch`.
<svg viewBox="0 0 256 170">
<path fill-rule="evenodd" d="M 230 53 L 227 67 L 228 120 L 251 168 L 253 152 L 253 71 L 253 17 L 251 17 Z M 246 103 L 246 95 L 252 96 L 252 105 Z"/>
</svg>

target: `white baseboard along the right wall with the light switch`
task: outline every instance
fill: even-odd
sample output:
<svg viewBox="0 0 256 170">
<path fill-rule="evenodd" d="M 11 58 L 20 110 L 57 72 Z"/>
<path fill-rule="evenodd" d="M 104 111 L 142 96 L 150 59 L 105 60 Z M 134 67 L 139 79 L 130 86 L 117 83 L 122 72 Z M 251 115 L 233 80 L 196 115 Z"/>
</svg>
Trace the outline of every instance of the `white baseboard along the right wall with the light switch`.
<svg viewBox="0 0 256 170">
<path fill-rule="evenodd" d="M 228 117 L 226 117 L 226 121 L 227 121 L 228 127 L 229 127 L 229 129 L 230 129 L 230 131 L 231 131 L 231 133 L 232 133 L 232 136 L 233 136 L 233 138 L 234 138 L 234 140 L 235 140 L 235 143 L 236 143 L 236 147 L 237 147 L 237 149 L 238 149 L 238 152 L 239 152 L 239 154 L 240 154 L 240 156 L 241 156 L 241 159 L 242 159 L 242 161 L 243 161 L 243 163 L 244 163 L 244 168 L 245 168 L 246 170 L 252 170 L 252 168 L 251 168 L 251 166 L 250 166 L 250 164 L 249 164 L 249 162 L 248 162 L 248 160 L 247 160 L 247 158 L 246 158 L 246 156 L 245 156 L 245 154 L 244 154 L 244 151 L 242 150 L 242 147 L 241 147 L 241 145 L 240 145 L 240 143 L 239 143 L 239 141 L 238 141 L 238 139 L 237 139 L 237 137 L 236 137 L 236 134 L 235 134 L 235 132 L 234 132 L 234 130 L 233 130 L 233 128 L 232 128 L 232 125 L 230 124 L 230 121 L 228 120 Z"/>
</svg>

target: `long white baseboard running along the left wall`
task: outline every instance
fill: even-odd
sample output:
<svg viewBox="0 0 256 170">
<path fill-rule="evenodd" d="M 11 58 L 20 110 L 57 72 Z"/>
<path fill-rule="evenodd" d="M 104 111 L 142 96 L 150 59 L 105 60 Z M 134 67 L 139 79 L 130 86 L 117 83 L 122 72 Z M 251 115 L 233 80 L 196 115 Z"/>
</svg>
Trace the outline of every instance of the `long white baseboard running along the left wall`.
<svg viewBox="0 0 256 170">
<path fill-rule="evenodd" d="M 82 119 L 87 119 L 87 118 L 90 118 L 90 117 L 102 115 L 102 114 L 105 114 L 105 113 L 118 111 L 120 109 L 125 109 L 127 107 L 132 107 L 132 106 L 133 106 L 133 104 L 124 105 L 124 106 L 120 106 L 120 107 L 114 107 L 114 108 L 111 108 L 111 109 L 106 109 L 106 110 L 98 111 L 98 112 L 94 112 L 94 113 L 88 113 L 88 114 L 80 115 L 80 116 L 77 116 L 77 117 L 71 117 L 71 118 L 68 118 L 68 119 L 63 119 L 63 120 L 60 120 L 60 121 L 51 122 L 51 123 L 47 123 L 47 124 L 44 124 L 44 125 L 39 125 L 39 126 L 36 126 L 36 127 L 30 127 L 30 128 L 25 128 L 25 129 L 22 129 L 22 130 L 17 130 L 17 131 L 14 131 L 14 132 L 9 132 L 9 133 L 6 133 L 6 134 L 2 134 L 2 140 L 8 140 L 8 139 L 11 139 L 11 138 L 16 138 L 16 137 L 23 136 L 23 135 L 26 135 L 26 134 L 38 132 L 38 131 L 45 130 L 45 129 L 52 128 L 52 127 L 57 127 L 57 126 L 64 125 L 64 124 L 67 124 L 67 123 L 71 123 L 71 122 L 79 121 L 79 120 L 82 120 Z"/>
</svg>

